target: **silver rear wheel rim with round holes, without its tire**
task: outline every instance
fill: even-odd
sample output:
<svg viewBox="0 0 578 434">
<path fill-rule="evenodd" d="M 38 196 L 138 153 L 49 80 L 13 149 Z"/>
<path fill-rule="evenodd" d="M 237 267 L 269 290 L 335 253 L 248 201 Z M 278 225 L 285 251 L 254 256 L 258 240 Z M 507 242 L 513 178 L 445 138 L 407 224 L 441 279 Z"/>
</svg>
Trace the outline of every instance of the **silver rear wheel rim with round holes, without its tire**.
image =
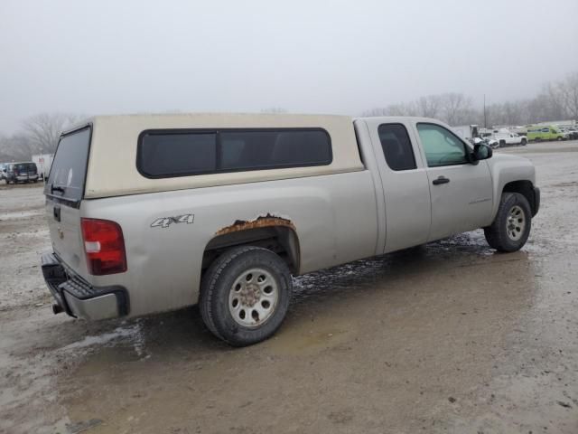
<svg viewBox="0 0 578 434">
<path fill-rule="evenodd" d="M 247 269 L 228 293 L 228 311 L 238 325 L 263 325 L 275 312 L 279 288 L 266 269 Z"/>
</svg>

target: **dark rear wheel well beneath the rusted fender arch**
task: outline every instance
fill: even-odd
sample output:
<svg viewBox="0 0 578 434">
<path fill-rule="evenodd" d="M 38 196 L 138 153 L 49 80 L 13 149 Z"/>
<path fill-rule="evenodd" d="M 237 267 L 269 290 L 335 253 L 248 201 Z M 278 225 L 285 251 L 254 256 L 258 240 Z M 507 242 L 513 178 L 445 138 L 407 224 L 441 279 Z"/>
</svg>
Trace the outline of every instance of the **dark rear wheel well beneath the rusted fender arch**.
<svg viewBox="0 0 578 434">
<path fill-rule="evenodd" d="M 217 235 L 205 247 L 202 270 L 208 269 L 210 264 L 225 250 L 238 246 L 257 246 L 271 250 L 285 261 L 292 274 L 299 274 L 299 239 L 295 231 L 286 226 L 229 231 Z"/>
</svg>

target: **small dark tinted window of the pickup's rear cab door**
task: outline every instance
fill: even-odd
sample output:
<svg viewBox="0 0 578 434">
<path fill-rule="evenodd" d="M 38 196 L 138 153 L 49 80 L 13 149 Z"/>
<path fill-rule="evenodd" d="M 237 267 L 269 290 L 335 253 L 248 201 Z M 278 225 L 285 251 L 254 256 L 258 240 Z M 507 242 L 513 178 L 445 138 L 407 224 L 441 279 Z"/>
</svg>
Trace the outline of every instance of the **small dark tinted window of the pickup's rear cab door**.
<svg viewBox="0 0 578 434">
<path fill-rule="evenodd" d="M 402 124 L 381 124 L 378 134 L 387 165 L 392 170 L 411 170 L 417 167 L 406 127 Z"/>
</svg>

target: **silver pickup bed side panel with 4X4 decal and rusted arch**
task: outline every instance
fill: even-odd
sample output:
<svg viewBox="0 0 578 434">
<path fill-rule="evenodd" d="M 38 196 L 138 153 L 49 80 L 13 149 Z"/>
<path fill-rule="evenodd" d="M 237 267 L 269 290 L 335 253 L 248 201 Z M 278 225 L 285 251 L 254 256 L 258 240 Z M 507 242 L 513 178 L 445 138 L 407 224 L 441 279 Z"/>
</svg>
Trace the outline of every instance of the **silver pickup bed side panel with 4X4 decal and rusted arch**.
<svg viewBox="0 0 578 434">
<path fill-rule="evenodd" d="M 205 247 L 238 220 L 267 213 L 290 220 L 300 244 L 300 274 L 376 252 L 377 210 L 367 170 L 86 200 L 81 211 L 122 227 L 127 271 L 90 281 L 127 288 L 131 316 L 195 304 Z M 192 223 L 151 227 L 157 219 L 189 213 Z"/>
</svg>

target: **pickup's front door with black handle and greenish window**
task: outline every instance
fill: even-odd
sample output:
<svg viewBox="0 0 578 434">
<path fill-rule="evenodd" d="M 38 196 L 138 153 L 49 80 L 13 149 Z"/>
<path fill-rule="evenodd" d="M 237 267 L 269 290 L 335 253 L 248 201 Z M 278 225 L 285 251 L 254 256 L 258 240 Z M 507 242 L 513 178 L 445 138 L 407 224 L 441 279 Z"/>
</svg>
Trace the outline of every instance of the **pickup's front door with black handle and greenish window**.
<svg viewBox="0 0 578 434">
<path fill-rule="evenodd" d="M 416 122 L 432 201 L 428 241 L 489 225 L 492 183 L 485 161 L 471 164 L 471 149 L 442 125 Z"/>
</svg>

